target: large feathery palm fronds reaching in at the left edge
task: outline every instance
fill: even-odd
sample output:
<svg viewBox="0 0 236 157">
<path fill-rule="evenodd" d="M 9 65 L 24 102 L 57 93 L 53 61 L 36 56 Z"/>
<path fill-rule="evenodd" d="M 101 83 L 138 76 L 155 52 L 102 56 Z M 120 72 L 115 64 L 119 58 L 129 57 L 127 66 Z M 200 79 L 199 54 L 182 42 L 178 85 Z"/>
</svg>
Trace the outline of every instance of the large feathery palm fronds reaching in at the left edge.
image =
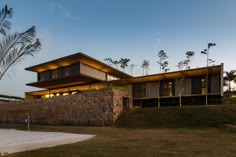
<svg viewBox="0 0 236 157">
<path fill-rule="evenodd" d="M 35 38 L 35 26 L 22 33 L 10 33 L 12 8 L 7 5 L 0 11 L 0 80 L 7 70 L 23 60 L 25 56 L 34 56 L 41 48 L 41 43 Z"/>
</svg>

